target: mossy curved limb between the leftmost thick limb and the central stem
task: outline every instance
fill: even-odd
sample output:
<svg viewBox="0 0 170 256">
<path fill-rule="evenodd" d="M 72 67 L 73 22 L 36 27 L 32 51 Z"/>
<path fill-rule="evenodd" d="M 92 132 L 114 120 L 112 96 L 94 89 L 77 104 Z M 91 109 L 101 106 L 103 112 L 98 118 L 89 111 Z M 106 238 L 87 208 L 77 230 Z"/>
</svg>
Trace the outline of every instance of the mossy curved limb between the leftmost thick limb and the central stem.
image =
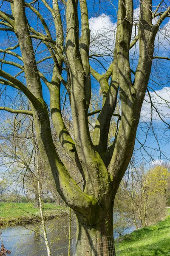
<svg viewBox="0 0 170 256">
<path fill-rule="evenodd" d="M 51 14 L 54 17 L 54 24 L 56 27 L 56 35 L 57 35 L 57 44 L 62 46 L 63 31 L 62 31 L 62 21 L 61 21 L 61 16 L 59 13 L 58 1 L 57 0 L 53 1 L 53 9 L 51 9 L 51 7 L 48 6 L 48 4 L 46 3 L 45 0 L 42 0 L 42 2 L 45 4 L 45 6 L 48 8 L 48 10 L 51 12 Z M 52 53 L 52 56 L 54 59 L 55 56 L 53 55 L 53 53 Z M 70 89 L 68 88 L 68 83 L 62 78 L 61 72 L 62 72 L 62 59 L 58 57 L 57 65 L 55 66 L 55 68 L 53 70 L 53 78 L 52 78 L 51 82 L 48 82 L 47 79 L 45 79 L 45 77 L 42 74 L 40 74 L 40 77 L 43 79 L 43 81 L 48 86 L 48 89 L 50 91 L 51 117 L 52 117 L 52 120 L 54 123 L 54 127 L 57 131 L 60 143 L 61 143 L 62 147 L 65 149 L 65 151 L 67 152 L 67 154 L 71 157 L 73 162 L 81 170 L 82 167 L 78 160 L 75 143 L 72 140 L 68 130 L 66 129 L 65 124 L 62 119 L 62 115 L 61 115 L 60 82 L 62 82 L 62 84 L 64 84 L 68 93 L 70 94 Z"/>
</svg>

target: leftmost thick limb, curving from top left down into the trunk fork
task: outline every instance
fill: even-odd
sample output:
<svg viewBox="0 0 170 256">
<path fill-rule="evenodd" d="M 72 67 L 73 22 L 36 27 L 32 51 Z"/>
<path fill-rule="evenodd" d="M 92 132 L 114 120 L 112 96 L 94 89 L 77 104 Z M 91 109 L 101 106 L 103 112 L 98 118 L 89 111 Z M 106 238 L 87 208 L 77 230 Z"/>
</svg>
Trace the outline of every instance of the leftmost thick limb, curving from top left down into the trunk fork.
<svg viewBox="0 0 170 256">
<path fill-rule="evenodd" d="M 45 102 L 42 99 L 42 89 L 39 80 L 37 65 L 34 57 L 34 50 L 32 47 L 32 41 L 30 38 L 26 13 L 24 9 L 24 0 L 14 0 L 13 9 L 15 22 L 16 22 L 16 34 L 20 43 L 20 49 L 23 56 L 24 69 L 26 74 L 26 81 L 28 88 L 38 98 L 39 104 L 31 106 L 34 124 L 37 134 L 37 143 L 40 148 L 40 152 L 43 155 L 43 159 L 46 164 L 46 168 L 50 171 L 51 178 L 54 180 L 59 195 L 65 200 L 65 202 L 72 208 L 76 207 L 77 211 L 82 212 L 85 210 L 85 205 L 91 204 L 92 198 L 85 195 L 76 182 L 70 177 L 65 166 L 62 164 L 59 156 L 55 150 L 53 143 L 50 122 L 48 117 L 48 110 Z M 70 193 L 70 191 L 72 191 Z M 79 198 L 83 200 L 79 201 Z"/>
</svg>

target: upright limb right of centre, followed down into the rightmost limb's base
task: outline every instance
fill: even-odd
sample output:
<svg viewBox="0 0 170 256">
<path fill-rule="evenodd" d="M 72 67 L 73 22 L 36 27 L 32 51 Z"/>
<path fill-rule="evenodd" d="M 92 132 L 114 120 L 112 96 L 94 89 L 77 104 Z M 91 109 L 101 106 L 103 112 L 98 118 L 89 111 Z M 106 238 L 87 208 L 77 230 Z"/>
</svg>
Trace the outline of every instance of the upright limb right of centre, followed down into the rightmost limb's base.
<svg viewBox="0 0 170 256">
<path fill-rule="evenodd" d="M 115 191 L 119 186 L 133 153 L 133 133 L 136 132 L 137 121 L 134 120 L 133 86 L 130 76 L 129 49 L 133 26 L 133 1 L 119 0 L 118 27 L 116 32 L 117 59 L 119 67 L 120 99 L 122 106 L 121 122 L 114 145 L 111 147 L 113 156 L 109 165 L 109 172 L 113 178 Z M 134 129 L 134 131 L 133 131 Z M 111 150 L 112 151 L 112 150 Z M 107 157 L 109 158 L 109 157 Z"/>
</svg>

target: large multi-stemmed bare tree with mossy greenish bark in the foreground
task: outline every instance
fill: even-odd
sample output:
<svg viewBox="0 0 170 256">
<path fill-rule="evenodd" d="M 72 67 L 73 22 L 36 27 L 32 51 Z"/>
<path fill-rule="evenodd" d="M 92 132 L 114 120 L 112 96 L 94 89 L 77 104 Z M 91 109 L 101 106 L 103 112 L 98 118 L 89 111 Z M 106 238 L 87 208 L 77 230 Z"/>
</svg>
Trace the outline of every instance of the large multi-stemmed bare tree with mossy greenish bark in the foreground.
<svg viewBox="0 0 170 256">
<path fill-rule="evenodd" d="M 95 1 L 92 2 L 95 4 Z M 99 246 L 96 238 L 113 236 L 114 198 L 133 154 L 142 103 L 155 58 L 154 41 L 165 18 L 170 16 L 166 0 L 157 4 L 152 0 L 139 1 L 140 15 L 135 23 L 138 33 L 133 38 L 133 2 L 119 0 L 119 3 L 115 3 L 117 29 L 113 61 L 109 67 L 105 63 L 106 72 L 102 75 L 93 64 L 90 66 L 91 37 L 86 0 L 34 0 L 30 3 L 6 0 L 1 5 L 0 30 L 7 33 L 6 40 L 9 39 L 9 44 L 12 42 L 13 45 L 0 49 L 3 53 L 0 83 L 6 86 L 6 90 L 13 87 L 21 91 L 28 98 L 31 109 L 23 110 L 20 102 L 18 109 L 7 105 L 0 109 L 33 116 L 37 143 L 46 169 L 59 195 L 77 216 L 77 240 L 80 245 L 77 255 L 89 255 L 91 248 L 96 255 Z M 130 49 L 137 41 L 139 55 L 136 55 L 137 64 L 132 70 Z M 40 45 L 42 48 L 39 48 Z M 49 53 L 44 56 L 45 51 Z M 42 53 L 42 59 L 37 60 L 38 53 Z M 99 55 L 97 53 L 93 54 L 96 58 L 101 52 Z M 43 73 L 43 67 L 39 66 L 48 59 L 51 59 L 48 70 L 51 78 L 47 70 Z M 6 68 L 8 65 L 21 71 L 16 74 L 12 68 L 10 72 Z M 25 80 L 22 81 L 20 74 L 23 73 Z M 102 92 L 101 109 L 93 113 L 88 111 L 93 88 L 91 75 L 99 82 Z M 44 84 L 50 94 L 50 115 L 54 128 L 65 154 L 82 175 L 83 189 L 70 176 L 56 151 L 47 97 L 43 93 Z M 63 86 L 71 106 L 74 136 L 65 125 L 61 111 Z M 121 116 L 115 113 L 118 98 Z M 91 136 L 88 116 L 95 113 L 98 116 Z M 113 115 L 118 116 L 120 122 L 111 145 L 108 145 Z M 94 240 L 89 242 L 89 239 Z M 102 243 L 100 255 L 112 255 L 112 248 L 105 250 L 105 239 Z"/>
</svg>

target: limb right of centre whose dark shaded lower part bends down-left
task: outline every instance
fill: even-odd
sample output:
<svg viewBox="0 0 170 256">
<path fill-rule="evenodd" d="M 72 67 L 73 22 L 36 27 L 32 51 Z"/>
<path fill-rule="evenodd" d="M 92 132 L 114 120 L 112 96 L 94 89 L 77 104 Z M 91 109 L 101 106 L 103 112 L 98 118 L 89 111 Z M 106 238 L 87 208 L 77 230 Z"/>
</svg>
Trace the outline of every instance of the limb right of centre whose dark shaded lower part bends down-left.
<svg viewBox="0 0 170 256">
<path fill-rule="evenodd" d="M 123 96 L 121 96 L 122 109 L 125 109 L 128 106 L 127 101 L 129 100 L 129 97 L 131 100 L 130 94 L 132 94 L 132 81 L 130 75 L 129 49 L 132 27 L 133 0 L 119 0 L 118 26 L 114 50 L 112 81 L 102 111 L 96 121 L 93 135 L 94 145 L 101 155 L 105 154 L 105 151 L 107 150 L 111 116 L 116 108 L 119 86 L 120 96 L 123 92 Z M 127 106 L 125 107 L 124 104 Z M 130 109 L 129 111 L 132 112 Z M 127 122 L 125 119 L 127 119 L 129 111 L 122 115 L 121 123 Z M 116 143 L 119 143 L 119 140 L 116 140 Z M 112 163 L 114 162 L 113 159 L 111 160 Z"/>
</svg>

